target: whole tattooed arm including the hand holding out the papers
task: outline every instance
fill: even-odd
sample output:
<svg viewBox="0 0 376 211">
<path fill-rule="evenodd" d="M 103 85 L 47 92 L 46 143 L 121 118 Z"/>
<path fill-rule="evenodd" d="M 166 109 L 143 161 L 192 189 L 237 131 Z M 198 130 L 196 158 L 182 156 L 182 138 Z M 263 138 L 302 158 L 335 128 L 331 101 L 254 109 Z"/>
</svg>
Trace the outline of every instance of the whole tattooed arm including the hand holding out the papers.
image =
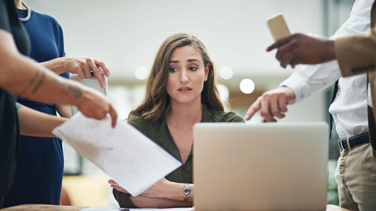
<svg viewBox="0 0 376 211">
<path fill-rule="evenodd" d="M 103 119 L 109 113 L 115 127 L 117 114 L 105 96 L 21 55 L 11 33 L 4 29 L 0 29 L 0 55 L 0 89 L 35 101 L 73 104 L 89 118 Z"/>
</svg>

